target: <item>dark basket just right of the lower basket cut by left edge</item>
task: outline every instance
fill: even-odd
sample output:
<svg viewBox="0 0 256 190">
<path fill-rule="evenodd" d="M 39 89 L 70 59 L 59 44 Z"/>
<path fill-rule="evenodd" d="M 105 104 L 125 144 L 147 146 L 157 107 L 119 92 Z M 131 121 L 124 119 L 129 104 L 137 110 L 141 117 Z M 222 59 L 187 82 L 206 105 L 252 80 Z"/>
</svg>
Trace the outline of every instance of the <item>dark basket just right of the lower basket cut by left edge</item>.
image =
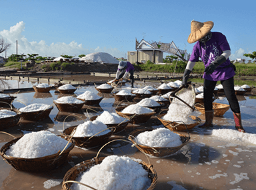
<svg viewBox="0 0 256 190">
<path fill-rule="evenodd" d="M 40 111 L 35 111 L 35 112 L 21 112 L 21 118 L 23 120 L 43 120 L 47 117 L 49 117 L 49 114 L 53 110 L 53 106 L 50 106 L 46 110 L 40 110 Z"/>
</svg>

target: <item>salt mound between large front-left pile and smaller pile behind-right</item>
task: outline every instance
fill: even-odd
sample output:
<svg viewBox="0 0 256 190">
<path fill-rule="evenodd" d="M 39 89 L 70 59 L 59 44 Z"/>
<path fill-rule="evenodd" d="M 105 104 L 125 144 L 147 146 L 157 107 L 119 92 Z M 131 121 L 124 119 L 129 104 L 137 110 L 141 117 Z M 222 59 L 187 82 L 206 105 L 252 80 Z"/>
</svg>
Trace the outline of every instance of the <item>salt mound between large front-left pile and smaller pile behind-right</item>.
<svg viewBox="0 0 256 190">
<path fill-rule="evenodd" d="M 103 124 L 103 122 L 97 120 L 94 120 L 93 122 L 87 121 L 77 126 L 77 130 L 75 130 L 75 134 L 73 137 L 91 137 L 105 129 L 107 129 L 107 126 Z M 104 134 L 108 134 L 109 132 L 111 131 L 105 130 L 95 136 L 103 136 Z"/>
</svg>

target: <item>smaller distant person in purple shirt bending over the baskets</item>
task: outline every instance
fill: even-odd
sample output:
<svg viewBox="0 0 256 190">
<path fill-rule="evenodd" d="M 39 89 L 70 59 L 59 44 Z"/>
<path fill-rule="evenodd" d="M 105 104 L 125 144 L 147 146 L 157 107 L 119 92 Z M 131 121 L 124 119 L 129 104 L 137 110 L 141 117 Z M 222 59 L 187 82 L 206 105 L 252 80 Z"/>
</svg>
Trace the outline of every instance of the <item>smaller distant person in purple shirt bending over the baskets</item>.
<svg viewBox="0 0 256 190">
<path fill-rule="evenodd" d="M 126 78 L 128 74 L 130 74 L 130 79 L 131 79 L 131 88 L 133 88 L 133 84 L 134 84 L 134 76 L 133 76 L 133 72 L 134 72 L 134 67 L 133 64 L 131 64 L 131 62 L 129 61 L 119 61 L 118 64 L 118 69 L 117 69 L 117 73 L 115 75 L 115 80 L 123 80 L 123 78 Z"/>
</svg>

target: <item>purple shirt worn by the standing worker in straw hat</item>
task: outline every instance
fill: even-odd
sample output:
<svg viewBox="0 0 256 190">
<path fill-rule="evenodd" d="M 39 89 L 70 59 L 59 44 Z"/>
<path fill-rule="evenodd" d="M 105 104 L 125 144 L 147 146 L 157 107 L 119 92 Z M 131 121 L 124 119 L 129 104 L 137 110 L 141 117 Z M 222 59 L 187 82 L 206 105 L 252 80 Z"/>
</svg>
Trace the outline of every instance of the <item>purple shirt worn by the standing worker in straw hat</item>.
<svg viewBox="0 0 256 190">
<path fill-rule="evenodd" d="M 206 43 L 197 43 L 193 47 L 192 54 L 189 58 L 191 62 L 199 61 L 199 57 L 203 60 L 205 67 L 219 57 L 223 51 L 230 50 L 229 43 L 225 35 L 219 32 L 211 32 L 212 37 Z M 203 78 L 207 80 L 219 81 L 227 80 L 235 75 L 233 67 L 225 67 L 231 64 L 229 58 L 223 64 L 218 66 L 212 74 L 203 74 Z M 224 68 L 225 67 L 225 68 Z"/>
</svg>

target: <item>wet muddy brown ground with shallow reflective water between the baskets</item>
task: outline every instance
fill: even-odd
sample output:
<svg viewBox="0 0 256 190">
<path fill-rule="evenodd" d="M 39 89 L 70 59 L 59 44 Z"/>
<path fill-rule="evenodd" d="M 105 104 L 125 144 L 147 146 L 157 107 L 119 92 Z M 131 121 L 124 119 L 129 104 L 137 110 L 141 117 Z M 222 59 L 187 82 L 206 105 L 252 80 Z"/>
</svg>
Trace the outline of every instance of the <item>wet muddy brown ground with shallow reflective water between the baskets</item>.
<svg viewBox="0 0 256 190">
<path fill-rule="evenodd" d="M 29 85 L 29 84 L 28 84 Z M 136 83 L 136 86 L 147 85 Z M 154 84 L 152 84 L 153 86 Z M 79 88 L 75 94 L 82 94 L 87 88 L 95 90 L 95 86 Z M 124 88 L 124 87 L 123 87 Z M 117 89 L 118 90 L 118 89 Z M 119 102 L 115 101 L 113 94 L 98 94 L 103 96 L 99 106 L 84 106 L 81 113 L 59 112 L 53 105 L 53 100 L 60 98 L 61 94 L 51 90 L 50 93 L 18 93 L 13 102 L 15 108 L 21 108 L 28 104 L 43 103 L 53 105 L 54 108 L 49 118 L 41 122 L 28 122 L 21 120 L 19 126 L 2 130 L 15 137 L 22 136 L 27 132 L 39 130 L 49 130 L 55 134 L 60 134 L 63 129 L 81 124 L 89 117 L 95 116 L 103 110 L 115 112 L 115 107 Z M 256 133 L 256 100 L 251 96 L 239 96 L 241 106 L 243 126 L 247 133 Z M 217 100 L 227 104 L 225 98 Z M 125 103 L 121 103 L 123 105 Z M 90 109 L 87 109 L 90 108 Z M 95 111 L 97 112 L 95 112 Z M 204 120 L 199 112 L 199 118 Z M 70 116 L 71 115 L 71 116 Z M 69 116 L 68 118 L 66 118 Z M 78 118 L 79 116 L 80 118 Z M 66 120 L 65 120 L 66 118 Z M 65 123 L 63 124 L 63 121 Z M 203 122 L 203 121 L 202 121 Z M 193 128 L 187 132 L 180 132 L 185 136 L 190 136 L 191 140 L 180 149 L 175 155 L 165 158 L 146 157 L 136 147 L 131 147 L 127 140 L 129 134 L 135 129 L 152 129 L 163 127 L 156 116 L 151 117 L 145 124 L 129 124 L 125 130 L 111 140 L 117 141 L 109 143 L 99 153 L 99 157 L 107 155 L 127 155 L 142 159 L 153 164 L 157 171 L 158 182 L 155 189 L 255 189 L 256 187 L 256 146 L 252 143 L 241 143 L 236 141 L 221 140 L 211 136 L 211 131 L 218 128 L 234 129 L 233 114 L 229 109 L 223 117 L 215 117 L 215 126 L 209 129 Z M 7 134 L 0 134 L 0 147 L 13 140 Z M 61 181 L 68 169 L 81 161 L 91 159 L 97 155 L 100 147 L 94 149 L 81 149 L 75 147 L 70 153 L 67 162 L 61 167 L 45 173 L 29 173 L 17 171 L 11 165 L 0 159 L 0 184 L 1 189 L 61 189 Z"/>
</svg>

